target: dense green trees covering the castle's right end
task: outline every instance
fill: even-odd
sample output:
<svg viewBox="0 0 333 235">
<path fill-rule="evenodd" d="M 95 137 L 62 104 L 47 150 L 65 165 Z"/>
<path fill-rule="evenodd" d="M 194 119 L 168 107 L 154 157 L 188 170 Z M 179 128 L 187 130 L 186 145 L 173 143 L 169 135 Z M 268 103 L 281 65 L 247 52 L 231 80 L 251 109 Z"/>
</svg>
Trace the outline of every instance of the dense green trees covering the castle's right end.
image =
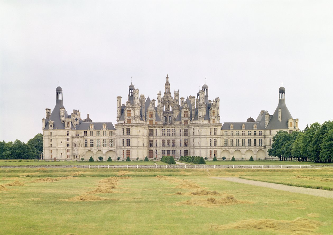
<svg viewBox="0 0 333 235">
<path fill-rule="evenodd" d="M 269 156 L 280 161 L 311 161 L 331 163 L 333 157 L 333 121 L 322 125 L 318 122 L 306 125 L 300 132 L 278 131 L 273 137 Z"/>
</svg>

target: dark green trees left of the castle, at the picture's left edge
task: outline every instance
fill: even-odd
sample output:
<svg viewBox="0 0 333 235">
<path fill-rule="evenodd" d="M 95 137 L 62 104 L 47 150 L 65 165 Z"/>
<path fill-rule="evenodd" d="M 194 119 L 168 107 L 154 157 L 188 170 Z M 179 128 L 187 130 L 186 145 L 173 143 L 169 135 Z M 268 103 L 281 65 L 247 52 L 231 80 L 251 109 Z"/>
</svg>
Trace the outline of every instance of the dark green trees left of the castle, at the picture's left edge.
<svg viewBox="0 0 333 235">
<path fill-rule="evenodd" d="M 27 143 L 20 140 L 0 142 L 0 159 L 35 159 L 43 153 L 43 135 L 37 134 Z"/>
</svg>

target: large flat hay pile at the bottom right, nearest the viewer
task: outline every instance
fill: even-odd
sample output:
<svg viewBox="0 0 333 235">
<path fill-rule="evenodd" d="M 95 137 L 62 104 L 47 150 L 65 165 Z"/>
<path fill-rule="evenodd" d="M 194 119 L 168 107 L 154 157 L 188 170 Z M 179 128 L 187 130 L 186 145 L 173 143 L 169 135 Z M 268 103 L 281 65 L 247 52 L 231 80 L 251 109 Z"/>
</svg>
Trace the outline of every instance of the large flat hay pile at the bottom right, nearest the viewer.
<svg viewBox="0 0 333 235">
<path fill-rule="evenodd" d="M 215 225 L 212 229 L 216 230 L 261 230 L 261 231 L 278 231 L 289 234 L 304 234 L 305 232 L 314 232 L 322 222 L 311 219 L 297 218 L 294 220 L 275 220 L 275 219 L 248 219 L 241 220 L 232 224 Z"/>
</svg>

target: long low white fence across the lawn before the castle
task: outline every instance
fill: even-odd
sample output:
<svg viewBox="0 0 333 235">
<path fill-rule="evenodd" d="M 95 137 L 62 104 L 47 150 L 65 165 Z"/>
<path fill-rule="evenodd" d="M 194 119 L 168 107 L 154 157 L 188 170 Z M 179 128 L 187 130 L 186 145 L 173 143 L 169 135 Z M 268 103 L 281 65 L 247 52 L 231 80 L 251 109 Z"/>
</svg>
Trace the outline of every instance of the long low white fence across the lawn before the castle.
<svg viewBox="0 0 333 235">
<path fill-rule="evenodd" d="M 90 168 L 117 168 L 117 169 L 221 169 L 221 168 L 256 168 L 256 169 L 277 169 L 277 168 L 311 168 L 311 165 L 122 165 L 122 166 L 89 166 Z"/>
</svg>

